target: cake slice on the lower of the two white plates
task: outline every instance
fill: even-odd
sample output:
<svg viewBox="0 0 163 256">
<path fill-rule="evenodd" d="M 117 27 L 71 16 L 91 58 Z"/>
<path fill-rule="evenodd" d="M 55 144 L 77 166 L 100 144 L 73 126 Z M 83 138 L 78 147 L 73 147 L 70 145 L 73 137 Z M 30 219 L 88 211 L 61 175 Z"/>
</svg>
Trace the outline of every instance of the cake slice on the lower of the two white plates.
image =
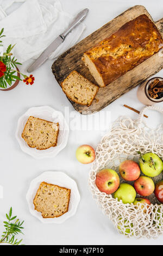
<svg viewBox="0 0 163 256">
<path fill-rule="evenodd" d="M 68 211 L 71 190 L 58 185 L 41 182 L 33 200 L 35 210 L 41 212 L 43 218 L 54 218 Z"/>
</svg>

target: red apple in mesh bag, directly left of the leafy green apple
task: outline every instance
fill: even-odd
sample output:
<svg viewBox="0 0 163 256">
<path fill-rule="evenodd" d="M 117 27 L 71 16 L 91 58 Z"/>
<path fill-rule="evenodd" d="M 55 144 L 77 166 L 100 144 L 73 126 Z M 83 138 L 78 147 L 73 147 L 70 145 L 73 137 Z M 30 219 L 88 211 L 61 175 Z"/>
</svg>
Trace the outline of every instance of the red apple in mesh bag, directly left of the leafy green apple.
<svg viewBox="0 0 163 256">
<path fill-rule="evenodd" d="M 126 160 L 120 164 L 120 174 L 124 180 L 133 181 L 137 180 L 140 176 L 139 164 L 133 160 Z"/>
</svg>

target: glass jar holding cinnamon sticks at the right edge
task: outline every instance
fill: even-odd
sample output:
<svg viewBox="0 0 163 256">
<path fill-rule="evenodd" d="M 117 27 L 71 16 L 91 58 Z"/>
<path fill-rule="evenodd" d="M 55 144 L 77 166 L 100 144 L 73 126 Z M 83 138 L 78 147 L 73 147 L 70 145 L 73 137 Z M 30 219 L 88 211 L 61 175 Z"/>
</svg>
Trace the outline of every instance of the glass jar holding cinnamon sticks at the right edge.
<svg viewBox="0 0 163 256">
<path fill-rule="evenodd" d="M 155 103 L 158 102 L 162 102 L 163 101 L 163 97 L 161 97 L 161 99 L 153 99 L 149 93 L 148 93 L 148 88 L 150 86 L 150 84 L 156 79 L 158 78 L 159 81 L 163 81 L 162 77 L 153 77 L 149 80 L 146 80 L 145 82 L 143 82 L 142 84 L 140 84 L 139 88 L 137 89 L 137 99 L 139 99 L 139 101 L 141 103 L 143 103 L 144 105 L 154 105 Z"/>
</svg>

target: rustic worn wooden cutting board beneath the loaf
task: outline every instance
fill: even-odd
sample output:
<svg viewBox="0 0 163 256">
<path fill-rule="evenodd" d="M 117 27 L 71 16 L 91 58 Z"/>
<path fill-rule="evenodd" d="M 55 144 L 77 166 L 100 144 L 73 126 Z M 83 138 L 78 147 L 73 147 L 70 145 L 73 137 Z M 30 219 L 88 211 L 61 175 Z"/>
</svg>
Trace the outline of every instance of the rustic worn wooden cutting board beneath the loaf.
<svg viewBox="0 0 163 256">
<path fill-rule="evenodd" d="M 90 74 L 89 69 L 86 68 L 81 59 L 83 53 L 89 48 L 95 46 L 99 41 L 116 32 L 122 25 L 124 25 L 124 23 L 133 20 L 142 14 L 146 14 L 152 20 L 151 15 L 149 15 L 145 7 L 142 5 L 135 5 L 63 53 L 52 65 L 52 72 L 57 82 L 61 84 L 71 71 L 77 70 L 87 79 L 96 83 Z M 163 18 L 156 21 L 155 25 L 158 27 L 163 37 Z M 76 111 L 81 114 L 91 114 L 93 112 L 100 111 L 122 94 L 136 87 L 142 81 L 154 75 L 162 68 L 163 57 L 160 57 L 159 53 L 156 53 L 154 56 L 148 58 L 133 70 L 128 71 L 125 75 L 110 83 L 108 86 L 99 88 L 96 99 L 93 100 L 90 107 L 79 105 L 71 100 L 70 102 Z"/>
</svg>

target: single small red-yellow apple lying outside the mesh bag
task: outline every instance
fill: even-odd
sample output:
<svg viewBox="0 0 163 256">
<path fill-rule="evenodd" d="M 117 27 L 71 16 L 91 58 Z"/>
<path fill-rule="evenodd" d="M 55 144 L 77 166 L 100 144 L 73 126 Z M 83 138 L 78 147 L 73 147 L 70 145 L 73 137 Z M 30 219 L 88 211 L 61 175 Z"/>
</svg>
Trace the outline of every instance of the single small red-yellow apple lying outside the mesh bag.
<svg viewBox="0 0 163 256">
<path fill-rule="evenodd" d="M 82 145 L 76 151 L 80 163 L 91 163 L 95 160 L 95 150 L 90 145 Z"/>
</svg>

